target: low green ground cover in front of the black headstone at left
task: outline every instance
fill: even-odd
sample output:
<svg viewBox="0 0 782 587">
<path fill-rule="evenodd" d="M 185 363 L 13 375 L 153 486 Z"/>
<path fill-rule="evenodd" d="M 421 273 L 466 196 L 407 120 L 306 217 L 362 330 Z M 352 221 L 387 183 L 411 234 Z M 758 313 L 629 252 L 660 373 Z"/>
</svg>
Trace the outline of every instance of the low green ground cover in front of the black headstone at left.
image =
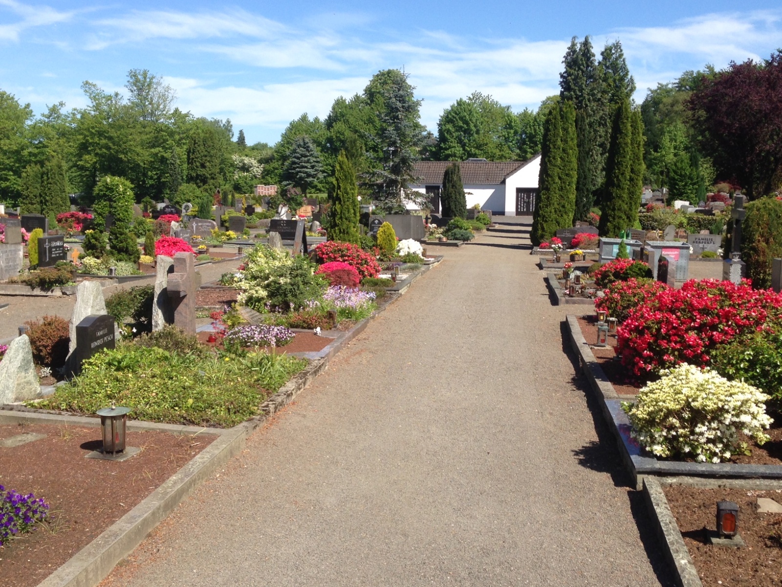
<svg viewBox="0 0 782 587">
<path fill-rule="evenodd" d="M 91 414 L 115 404 L 138 420 L 231 427 L 306 365 L 287 355 L 213 351 L 167 327 L 89 358 L 36 407 Z"/>
</svg>

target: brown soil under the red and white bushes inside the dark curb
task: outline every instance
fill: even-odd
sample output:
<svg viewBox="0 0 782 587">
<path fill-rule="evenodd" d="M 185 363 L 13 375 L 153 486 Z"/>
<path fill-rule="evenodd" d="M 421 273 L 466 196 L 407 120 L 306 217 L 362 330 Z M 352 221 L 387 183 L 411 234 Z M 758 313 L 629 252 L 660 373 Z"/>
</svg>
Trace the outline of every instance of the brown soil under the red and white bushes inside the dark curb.
<svg viewBox="0 0 782 587">
<path fill-rule="evenodd" d="M 586 315 L 578 317 L 581 333 L 587 343 L 594 344 L 597 340 L 597 316 Z M 616 357 L 616 337 L 608 335 L 608 347 L 590 347 L 595 360 L 603 369 L 603 373 L 614 386 L 619 395 L 636 395 L 643 387 L 627 376 L 627 370 Z M 762 446 L 755 445 L 750 438 L 744 437 L 742 440 L 747 443 L 751 454 L 734 455 L 728 463 L 737 463 L 741 465 L 782 465 L 782 415 L 772 413 L 773 423 L 766 434 L 771 440 Z M 660 459 L 660 457 L 657 457 Z M 681 460 L 681 459 L 660 459 L 660 460 Z M 687 462 L 694 462 L 693 459 L 683 459 Z"/>
</svg>

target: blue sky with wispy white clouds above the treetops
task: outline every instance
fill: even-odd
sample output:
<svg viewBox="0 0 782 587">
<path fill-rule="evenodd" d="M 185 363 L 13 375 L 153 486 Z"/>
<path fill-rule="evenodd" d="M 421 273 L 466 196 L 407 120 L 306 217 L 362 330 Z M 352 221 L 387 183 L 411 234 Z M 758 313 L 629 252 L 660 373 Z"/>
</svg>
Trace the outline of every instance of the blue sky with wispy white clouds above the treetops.
<svg viewBox="0 0 782 587">
<path fill-rule="evenodd" d="M 738 5 L 738 9 L 737 9 Z M 84 106 L 80 85 L 123 91 L 146 68 L 176 105 L 231 118 L 248 142 L 274 143 L 293 118 L 324 117 L 338 95 L 404 67 L 436 132 L 443 108 L 478 90 L 514 110 L 558 92 L 573 35 L 622 41 L 636 99 L 705 63 L 782 47 L 778 0 L 711 2 L 27 2 L 0 0 L 0 89 L 36 113 Z"/>
</svg>

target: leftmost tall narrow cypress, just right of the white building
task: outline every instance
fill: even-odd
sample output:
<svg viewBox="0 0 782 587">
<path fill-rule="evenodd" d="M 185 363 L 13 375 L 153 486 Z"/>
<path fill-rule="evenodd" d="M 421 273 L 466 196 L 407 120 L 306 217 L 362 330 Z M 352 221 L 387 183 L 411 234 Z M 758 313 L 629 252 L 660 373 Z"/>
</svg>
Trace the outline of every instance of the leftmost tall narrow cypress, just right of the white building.
<svg viewBox="0 0 782 587">
<path fill-rule="evenodd" d="M 554 236 L 558 224 L 558 194 L 561 178 L 562 121 L 558 107 L 553 106 L 543 124 L 543 146 L 540 153 L 540 196 L 533 214 L 533 227 L 529 233 L 534 245 Z"/>
</svg>

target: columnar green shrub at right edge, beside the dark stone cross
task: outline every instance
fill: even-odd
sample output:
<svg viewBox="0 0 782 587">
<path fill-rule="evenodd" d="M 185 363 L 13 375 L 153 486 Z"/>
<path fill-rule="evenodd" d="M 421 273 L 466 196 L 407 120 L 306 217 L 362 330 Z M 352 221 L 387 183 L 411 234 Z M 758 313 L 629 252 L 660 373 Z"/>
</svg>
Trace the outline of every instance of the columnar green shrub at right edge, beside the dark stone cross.
<svg viewBox="0 0 782 587">
<path fill-rule="evenodd" d="M 782 257 L 782 200 L 767 197 L 750 202 L 741 224 L 741 259 L 752 286 L 771 286 L 771 260 Z"/>
</svg>

